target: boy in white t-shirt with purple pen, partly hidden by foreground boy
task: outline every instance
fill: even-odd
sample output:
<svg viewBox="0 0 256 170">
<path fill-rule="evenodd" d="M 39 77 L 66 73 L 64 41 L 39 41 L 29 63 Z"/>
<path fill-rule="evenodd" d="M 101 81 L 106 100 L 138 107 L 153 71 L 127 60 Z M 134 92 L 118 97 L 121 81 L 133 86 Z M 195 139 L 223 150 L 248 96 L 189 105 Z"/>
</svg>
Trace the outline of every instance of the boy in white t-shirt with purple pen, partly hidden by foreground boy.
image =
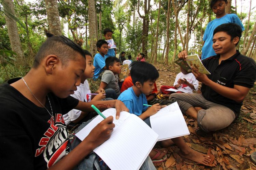
<svg viewBox="0 0 256 170">
<path fill-rule="evenodd" d="M 115 91 L 113 89 L 99 89 L 96 91 L 96 94 L 98 95 L 90 95 L 91 90 L 89 88 L 89 83 L 86 79 L 93 78 L 94 74 L 94 65 L 93 65 L 93 56 L 91 53 L 87 50 L 83 50 L 85 53 L 86 58 L 86 68 L 84 73 L 81 75 L 81 84 L 77 87 L 77 90 L 73 95 L 70 95 L 80 101 L 83 102 L 90 102 L 90 101 L 96 101 L 96 100 L 113 100 L 111 97 L 114 94 Z M 81 124 L 82 122 L 88 121 L 92 119 L 97 114 L 89 114 L 89 112 L 82 112 L 76 109 L 72 109 L 67 114 L 63 115 L 64 121 L 66 125 L 71 124 Z M 80 123 L 81 122 L 81 123 Z M 72 127 L 72 125 L 71 125 Z"/>
</svg>

